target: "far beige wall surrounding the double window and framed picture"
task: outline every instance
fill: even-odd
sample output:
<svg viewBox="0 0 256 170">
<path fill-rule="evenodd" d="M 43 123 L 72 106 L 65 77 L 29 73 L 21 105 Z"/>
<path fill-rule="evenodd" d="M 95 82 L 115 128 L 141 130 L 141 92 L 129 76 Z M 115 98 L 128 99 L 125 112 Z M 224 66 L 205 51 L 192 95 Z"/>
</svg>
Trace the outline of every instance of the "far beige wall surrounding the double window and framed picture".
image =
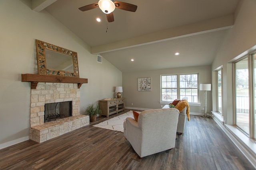
<svg viewBox="0 0 256 170">
<path fill-rule="evenodd" d="M 182 62 L 182 61 L 181 61 Z M 199 84 L 211 83 L 211 67 L 196 66 L 186 68 L 169 68 L 161 70 L 149 70 L 140 72 L 123 73 L 123 97 L 126 98 L 126 107 L 157 109 L 160 104 L 160 75 L 161 74 L 186 74 L 199 73 Z M 138 91 L 138 78 L 151 77 L 151 91 Z M 208 92 L 207 111 L 212 110 L 211 93 Z M 132 105 L 133 103 L 133 105 Z M 190 105 L 190 112 L 202 113 L 204 108 L 204 93 L 199 91 L 199 106 Z"/>
</svg>

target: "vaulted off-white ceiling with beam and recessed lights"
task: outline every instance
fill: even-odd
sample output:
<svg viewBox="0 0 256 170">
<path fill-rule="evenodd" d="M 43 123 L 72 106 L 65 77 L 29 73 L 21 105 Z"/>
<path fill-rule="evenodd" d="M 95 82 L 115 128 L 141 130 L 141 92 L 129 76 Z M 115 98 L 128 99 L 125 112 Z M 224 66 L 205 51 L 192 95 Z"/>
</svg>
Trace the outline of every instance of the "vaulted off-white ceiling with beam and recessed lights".
<svg viewBox="0 0 256 170">
<path fill-rule="evenodd" d="M 122 72 L 210 65 L 226 29 L 234 24 L 238 4 L 238 0 L 121 0 L 137 5 L 137 11 L 116 9 L 114 22 L 108 23 L 99 8 L 78 10 L 98 0 L 42 0 L 35 5 L 36 1 L 32 0 L 34 10 L 46 7 L 91 46 L 92 54 L 100 54 Z M 96 17 L 102 22 L 97 23 Z"/>
</svg>

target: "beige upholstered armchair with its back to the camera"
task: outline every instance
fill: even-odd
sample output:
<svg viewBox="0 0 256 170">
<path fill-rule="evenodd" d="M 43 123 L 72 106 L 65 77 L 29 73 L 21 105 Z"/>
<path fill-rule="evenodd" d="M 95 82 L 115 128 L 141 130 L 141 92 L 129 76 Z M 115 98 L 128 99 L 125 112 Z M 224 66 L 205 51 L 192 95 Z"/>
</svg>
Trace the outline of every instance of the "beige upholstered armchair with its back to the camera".
<svg viewBox="0 0 256 170">
<path fill-rule="evenodd" d="M 179 111 L 175 108 L 142 111 L 138 122 L 128 117 L 124 137 L 142 158 L 175 147 Z"/>
</svg>

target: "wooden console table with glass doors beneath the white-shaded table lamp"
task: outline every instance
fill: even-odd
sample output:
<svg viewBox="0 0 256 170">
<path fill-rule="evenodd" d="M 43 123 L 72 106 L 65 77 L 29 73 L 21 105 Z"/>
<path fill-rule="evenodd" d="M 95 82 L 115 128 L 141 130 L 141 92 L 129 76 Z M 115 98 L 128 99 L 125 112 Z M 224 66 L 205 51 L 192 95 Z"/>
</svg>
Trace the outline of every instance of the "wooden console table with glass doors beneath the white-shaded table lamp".
<svg viewBox="0 0 256 170">
<path fill-rule="evenodd" d="M 124 98 L 109 98 L 100 100 L 102 115 L 109 116 L 120 111 L 124 111 Z"/>
</svg>

